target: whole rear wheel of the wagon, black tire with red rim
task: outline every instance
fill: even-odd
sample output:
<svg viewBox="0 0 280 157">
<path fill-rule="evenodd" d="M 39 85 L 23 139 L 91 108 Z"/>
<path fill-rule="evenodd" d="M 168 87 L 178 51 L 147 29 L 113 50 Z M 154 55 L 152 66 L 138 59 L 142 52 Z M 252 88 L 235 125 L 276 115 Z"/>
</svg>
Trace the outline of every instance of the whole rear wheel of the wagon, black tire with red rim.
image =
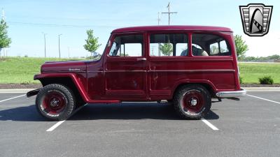
<svg viewBox="0 0 280 157">
<path fill-rule="evenodd" d="M 211 108 L 211 95 L 200 84 L 185 85 L 176 91 L 174 108 L 183 119 L 201 119 Z"/>
</svg>

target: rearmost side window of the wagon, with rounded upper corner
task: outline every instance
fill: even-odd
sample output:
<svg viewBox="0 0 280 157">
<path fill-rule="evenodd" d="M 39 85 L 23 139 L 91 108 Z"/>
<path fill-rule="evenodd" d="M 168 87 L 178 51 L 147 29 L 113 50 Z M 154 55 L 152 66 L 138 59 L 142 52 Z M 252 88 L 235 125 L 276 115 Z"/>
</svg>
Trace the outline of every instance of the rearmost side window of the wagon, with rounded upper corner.
<svg viewBox="0 0 280 157">
<path fill-rule="evenodd" d="M 228 43 L 221 36 L 209 33 L 193 34 L 192 43 L 193 56 L 231 56 Z"/>
</svg>

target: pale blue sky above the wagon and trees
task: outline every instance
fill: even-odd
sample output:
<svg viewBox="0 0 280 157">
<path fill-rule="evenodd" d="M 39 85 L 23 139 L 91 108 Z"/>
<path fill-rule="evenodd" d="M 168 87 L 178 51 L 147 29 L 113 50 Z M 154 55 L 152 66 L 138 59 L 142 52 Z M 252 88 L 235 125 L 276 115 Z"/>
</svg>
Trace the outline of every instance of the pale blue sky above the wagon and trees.
<svg viewBox="0 0 280 157">
<path fill-rule="evenodd" d="M 226 0 L 0 0 L 5 12 L 8 36 L 8 56 L 43 57 L 46 33 L 47 57 L 58 57 L 58 35 L 62 57 L 90 56 L 83 45 L 86 30 L 93 29 L 102 44 L 102 53 L 113 29 L 158 25 L 158 12 L 166 12 L 171 3 L 171 25 L 206 25 L 229 27 L 248 45 L 246 56 L 265 57 L 280 54 L 280 1 L 226 1 Z M 250 37 L 243 32 L 239 6 L 264 3 L 273 6 L 269 33 Z M 168 25 L 168 15 L 160 14 L 160 25 Z M 3 52 L 3 51 L 2 51 Z"/>
</svg>

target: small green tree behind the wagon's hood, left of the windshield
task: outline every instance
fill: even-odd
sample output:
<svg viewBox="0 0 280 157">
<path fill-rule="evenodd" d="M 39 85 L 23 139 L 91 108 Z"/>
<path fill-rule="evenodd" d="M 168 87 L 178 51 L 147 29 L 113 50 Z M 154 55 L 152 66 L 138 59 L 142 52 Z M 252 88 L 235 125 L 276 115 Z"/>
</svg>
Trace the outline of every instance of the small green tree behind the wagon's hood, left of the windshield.
<svg viewBox="0 0 280 157">
<path fill-rule="evenodd" d="M 98 37 L 94 37 L 93 35 L 93 30 L 92 29 L 87 30 L 87 39 L 85 39 L 85 45 L 83 45 L 83 47 L 85 47 L 85 50 L 87 50 L 90 53 L 93 53 L 100 46 L 101 44 L 98 44 Z"/>
</svg>

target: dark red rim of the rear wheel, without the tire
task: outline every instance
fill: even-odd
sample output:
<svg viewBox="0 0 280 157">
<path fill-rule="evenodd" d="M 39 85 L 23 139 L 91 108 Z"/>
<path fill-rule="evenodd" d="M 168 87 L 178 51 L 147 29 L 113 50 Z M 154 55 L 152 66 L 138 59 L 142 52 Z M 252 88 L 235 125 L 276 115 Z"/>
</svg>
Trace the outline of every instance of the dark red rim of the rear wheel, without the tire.
<svg viewBox="0 0 280 157">
<path fill-rule="evenodd" d="M 200 112 L 204 103 L 204 96 L 197 90 L 186 92 L 181 99 L 181 107 L 185 112 Z"/>
</svg>

